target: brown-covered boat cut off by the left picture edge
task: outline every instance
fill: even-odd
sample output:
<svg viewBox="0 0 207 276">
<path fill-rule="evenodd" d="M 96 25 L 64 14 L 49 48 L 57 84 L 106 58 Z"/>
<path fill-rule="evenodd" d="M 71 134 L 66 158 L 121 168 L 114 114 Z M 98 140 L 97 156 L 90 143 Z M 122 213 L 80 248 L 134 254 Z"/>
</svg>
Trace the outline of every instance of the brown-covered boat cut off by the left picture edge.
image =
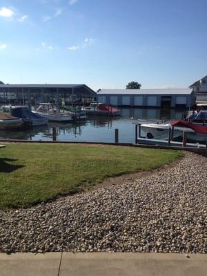
<svg viewBox="0 0 207 276">
<path fill-rule="evenodd" d="M 0 112 L 0 130 L 18 130 L 23 128 L 23 120 Z"/>
</svg>

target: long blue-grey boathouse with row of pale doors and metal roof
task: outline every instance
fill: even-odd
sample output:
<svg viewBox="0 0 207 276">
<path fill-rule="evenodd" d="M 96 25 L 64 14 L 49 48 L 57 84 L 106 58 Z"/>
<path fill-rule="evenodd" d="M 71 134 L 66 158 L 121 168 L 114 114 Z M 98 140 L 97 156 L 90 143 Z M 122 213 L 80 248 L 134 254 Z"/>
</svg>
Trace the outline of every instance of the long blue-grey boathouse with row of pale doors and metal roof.
<svg viewBox="0 0 207 276">
<path fill-rule="evenodd" d="M 102 89 L 97 101 L 111 106 L 152 108 L 189 108 L 195 104 L 195 93 L 187 89 Z"/>
</svg>

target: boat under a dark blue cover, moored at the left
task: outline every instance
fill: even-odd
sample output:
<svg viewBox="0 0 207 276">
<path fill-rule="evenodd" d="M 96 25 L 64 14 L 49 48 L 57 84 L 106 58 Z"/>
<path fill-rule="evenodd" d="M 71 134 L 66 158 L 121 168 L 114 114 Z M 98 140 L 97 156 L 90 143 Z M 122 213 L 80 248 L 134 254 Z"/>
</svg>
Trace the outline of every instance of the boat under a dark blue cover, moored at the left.
<svg viewBox="0 0 207 276">
<path fill-rule="evenodd" d="M 44 126 L 48 124 L 48 119 L 31 112 L 26 106 L 3 106 L 3 112 L 21 118 L 30 126 Z"/>
</svg>

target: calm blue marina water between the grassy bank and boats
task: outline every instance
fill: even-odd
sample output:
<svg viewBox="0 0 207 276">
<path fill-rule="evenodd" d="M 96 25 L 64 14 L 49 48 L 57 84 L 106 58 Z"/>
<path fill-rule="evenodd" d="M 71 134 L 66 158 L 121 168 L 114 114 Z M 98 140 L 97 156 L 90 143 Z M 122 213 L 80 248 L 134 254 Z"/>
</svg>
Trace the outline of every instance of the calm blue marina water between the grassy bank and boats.
<svg viewBox="0 0 207 276">
<path fill-rule="evenodd" d="M 184 110 L 160 110 L 147 108 L 121 108 L 121 117 L 88 117 L 80 123 L 53 123 L 48 126 L 37 126 L 32 130 L 3 131 L 1 139 L 26 139 L 52 141 L 52 126 L 57 127 L 57 141 L 103 141 L 113 142 L 115 128 L 119 128 L 119 142 L 134 143 L 137 119 L 159 120 L 180 119 Z"/>
</svg>

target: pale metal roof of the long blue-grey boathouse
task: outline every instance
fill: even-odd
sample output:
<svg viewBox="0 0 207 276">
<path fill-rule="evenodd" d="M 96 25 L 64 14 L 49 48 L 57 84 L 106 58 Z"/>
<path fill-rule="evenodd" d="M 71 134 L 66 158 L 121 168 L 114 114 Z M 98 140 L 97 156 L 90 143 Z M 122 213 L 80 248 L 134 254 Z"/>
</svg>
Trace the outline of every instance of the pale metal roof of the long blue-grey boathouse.
<svg viewBox="0 0 207 276">
<path fill-rule="evenodd" d="M 190 95 L 193 89 L 175 88 L 175 89 L 101 89 L 97 95 Z"/>
</svg>

